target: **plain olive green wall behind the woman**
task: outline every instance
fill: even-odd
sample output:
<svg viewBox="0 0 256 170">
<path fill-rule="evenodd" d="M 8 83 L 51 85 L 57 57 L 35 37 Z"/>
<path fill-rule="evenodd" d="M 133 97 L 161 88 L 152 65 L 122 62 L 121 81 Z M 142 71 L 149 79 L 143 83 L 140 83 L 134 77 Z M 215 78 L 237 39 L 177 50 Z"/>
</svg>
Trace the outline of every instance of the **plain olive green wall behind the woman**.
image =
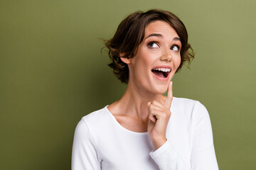
<svg viewBox="0 0 256 170">
<path fill-rule="evenodd" d="M 100 53 L 129 13 L 162 8 L 196 51 L 174 96 L 210 113 L 220 169 L 255 169 L 256 1 L 0 0 L 0 169 L 70 169 L 80 118 L 122 96 Z"/>
</svg>

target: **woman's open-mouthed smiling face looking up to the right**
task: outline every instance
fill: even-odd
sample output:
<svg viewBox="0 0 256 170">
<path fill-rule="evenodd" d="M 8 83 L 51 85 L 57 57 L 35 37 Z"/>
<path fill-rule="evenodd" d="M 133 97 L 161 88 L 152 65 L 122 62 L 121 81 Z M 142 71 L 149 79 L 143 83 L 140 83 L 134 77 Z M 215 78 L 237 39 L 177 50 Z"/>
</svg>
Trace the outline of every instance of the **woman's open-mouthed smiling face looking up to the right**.
<svg viewBox="0 0 256 170">
<path fill-rule="evenodd" d="M 180 50 L 180 38 L 169 23 L 149 23 L 137 54 L 121 58 L 129 67 L 129 84 L 139 91 L 164 94 L 181 63 Z"/>
</svg>

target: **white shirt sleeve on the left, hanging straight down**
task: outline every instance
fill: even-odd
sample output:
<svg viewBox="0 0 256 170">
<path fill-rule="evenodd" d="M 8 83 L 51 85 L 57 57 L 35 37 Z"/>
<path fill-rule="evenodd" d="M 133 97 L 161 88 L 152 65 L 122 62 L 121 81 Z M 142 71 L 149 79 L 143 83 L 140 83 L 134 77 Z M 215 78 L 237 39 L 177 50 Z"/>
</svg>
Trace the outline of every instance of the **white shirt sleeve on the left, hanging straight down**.
<svg viewBox="0 0 256 170">
<path fill-rule="evenodd" d="M 97 149 L 89 127 L 85 120 L 80 120 L 75 128 L 72 149 L 72 170 L 95 169 L 100 170 Z"/>
</svg>

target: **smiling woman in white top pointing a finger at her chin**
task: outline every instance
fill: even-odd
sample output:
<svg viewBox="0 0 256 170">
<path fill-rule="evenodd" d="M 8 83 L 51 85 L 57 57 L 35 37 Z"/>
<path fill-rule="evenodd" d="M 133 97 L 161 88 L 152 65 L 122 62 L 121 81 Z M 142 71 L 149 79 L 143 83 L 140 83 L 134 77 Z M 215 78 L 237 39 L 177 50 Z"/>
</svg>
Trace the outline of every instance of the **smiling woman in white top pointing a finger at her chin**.
<svg viewBox="0 0 256 170">
<path fill-rule="evenodd" d="M 172 95 L 172 77 L 193 57 L 183 23 L 169 11 L 135 12 L 105 45 L 127 90 L 80 120 L 73 170 L 218 169 L 206 108 Z"/>
</svg>

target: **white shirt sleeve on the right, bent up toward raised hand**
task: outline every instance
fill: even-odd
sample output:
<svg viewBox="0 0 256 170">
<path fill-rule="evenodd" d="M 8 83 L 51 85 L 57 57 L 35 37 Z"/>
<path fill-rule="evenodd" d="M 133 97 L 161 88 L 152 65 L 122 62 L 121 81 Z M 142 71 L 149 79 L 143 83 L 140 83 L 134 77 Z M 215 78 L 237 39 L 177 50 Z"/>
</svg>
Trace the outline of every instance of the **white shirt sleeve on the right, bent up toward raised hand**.
<svg viewBox="0 0 256 170">
<path fill-rule="evenodd" d="M 161 170 L 218 170 L 213 146 L 213 132 L 208 111 L 201 103 L 196 103 L 195 123 L 193 123 L 191 164 L 179 156 L 167 140 L 164 145 L 150 152 L 150 156 Z"/>
</svg>

